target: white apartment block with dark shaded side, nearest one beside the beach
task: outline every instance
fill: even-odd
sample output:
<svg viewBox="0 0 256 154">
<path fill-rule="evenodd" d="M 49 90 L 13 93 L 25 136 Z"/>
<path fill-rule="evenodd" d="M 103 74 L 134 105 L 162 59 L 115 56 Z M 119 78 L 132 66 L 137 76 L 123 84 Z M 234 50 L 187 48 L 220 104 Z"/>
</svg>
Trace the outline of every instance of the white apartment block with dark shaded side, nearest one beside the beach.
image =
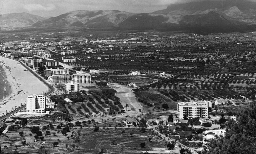
<svg viewBox="0 0 256 154">
<path fill-rule="evenodd" d="M 44 95 L 29 95 L 26 103 L 28 113 L 45 113 L 46 97 Z"/>
</svg>

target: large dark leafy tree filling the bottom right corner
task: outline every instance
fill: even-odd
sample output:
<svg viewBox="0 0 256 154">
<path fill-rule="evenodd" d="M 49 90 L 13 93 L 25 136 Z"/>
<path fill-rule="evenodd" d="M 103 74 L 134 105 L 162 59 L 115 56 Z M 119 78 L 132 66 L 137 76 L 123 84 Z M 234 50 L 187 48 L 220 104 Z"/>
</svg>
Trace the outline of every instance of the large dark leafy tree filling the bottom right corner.
<svg viewBox="0 0 256 154">
<path fill-rule="evenodd" d="M 248 108 L 241 110 L 237 116 L 237 123 L 230 119 L 227 122 L 225 137 L 216 136 L 209 144 L 209 152 L 212 154 L 253 154 L 256 151 L 256 104 L 252 103 Z"/>
</svg>

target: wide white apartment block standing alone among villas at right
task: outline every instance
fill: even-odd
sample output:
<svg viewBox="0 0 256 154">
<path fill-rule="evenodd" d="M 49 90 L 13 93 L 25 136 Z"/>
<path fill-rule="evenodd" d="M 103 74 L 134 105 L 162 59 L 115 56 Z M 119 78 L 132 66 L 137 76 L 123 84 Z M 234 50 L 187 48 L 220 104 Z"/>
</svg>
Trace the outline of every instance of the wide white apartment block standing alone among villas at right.
<svg viewBox="0 0 256 154">
<path fill-rule="evenodd" d="M 180 119 L 184 119 L 185 116 L 187 118 L 207 118 L 210 106 L 210 101 L 181 102 L 178 103 L 177 109 L 180 112 Z"/>
</svg>

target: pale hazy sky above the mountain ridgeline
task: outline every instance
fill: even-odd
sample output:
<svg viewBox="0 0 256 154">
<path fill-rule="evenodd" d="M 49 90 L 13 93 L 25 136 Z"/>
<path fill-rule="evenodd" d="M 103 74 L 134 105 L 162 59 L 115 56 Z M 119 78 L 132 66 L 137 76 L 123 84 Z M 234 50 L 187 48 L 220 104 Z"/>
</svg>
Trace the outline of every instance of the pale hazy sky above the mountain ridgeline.
<svg viewBox="0 0 256 154">
<path fill-rule="evenodd" d="M 182 0 L 0 0 L 0 13 L 28 12 L 35 15 L 57 16 L 72 10 L 120 10 L 153 12 Z"/>
</svg>

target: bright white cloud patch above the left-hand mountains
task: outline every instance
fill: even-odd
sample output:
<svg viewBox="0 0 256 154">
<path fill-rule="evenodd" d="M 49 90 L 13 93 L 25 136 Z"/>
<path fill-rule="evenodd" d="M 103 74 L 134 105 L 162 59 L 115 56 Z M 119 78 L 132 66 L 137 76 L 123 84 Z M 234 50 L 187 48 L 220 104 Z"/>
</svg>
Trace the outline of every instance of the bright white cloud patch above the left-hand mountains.
<svg viewBox="0 0 256 154">
<path fill-rule="evenodd" d="M 25 4 L 23 5 L 23 8 L 28 11 L 36 11 L 36 10 L 45 10 L 50 11 L 55 9 L 55 5 L 53 4 L 47 4 L 46 6 L 42 6 L 41 4 Z"/>
</svg>

